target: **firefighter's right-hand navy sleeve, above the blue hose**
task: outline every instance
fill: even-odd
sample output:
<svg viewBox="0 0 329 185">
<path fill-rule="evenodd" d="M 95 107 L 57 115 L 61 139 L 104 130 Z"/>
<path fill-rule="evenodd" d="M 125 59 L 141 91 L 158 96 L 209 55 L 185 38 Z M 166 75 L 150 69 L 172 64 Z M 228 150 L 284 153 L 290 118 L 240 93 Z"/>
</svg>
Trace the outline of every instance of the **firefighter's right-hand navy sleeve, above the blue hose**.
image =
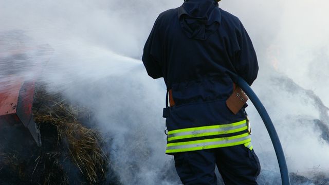
<svg viewBox="0 0 329 185">
<path fill-rule="evenodd" d="M 258 61 L 250 37 L 241 23 L 240 31 L 236 33 L 239 49 L 235 51 L 235 69 L 249 85 L 257 78 Z"/>
</svg>

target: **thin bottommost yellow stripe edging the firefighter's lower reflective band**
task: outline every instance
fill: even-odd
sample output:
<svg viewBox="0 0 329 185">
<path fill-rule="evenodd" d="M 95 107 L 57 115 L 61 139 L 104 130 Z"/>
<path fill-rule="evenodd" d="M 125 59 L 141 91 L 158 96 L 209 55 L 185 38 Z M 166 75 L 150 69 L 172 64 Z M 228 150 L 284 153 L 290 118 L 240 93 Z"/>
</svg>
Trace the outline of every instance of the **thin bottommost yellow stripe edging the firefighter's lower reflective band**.
<svg viewBox="0 0 329 185">
<path fill-rule="evenodd" d="M 197 151 L 197 150 L 205 150 L 205 149 L 215 149 L 218 147 L 227 147 L 227 146 L 235 146 L 235 145 L 240 145 L 244 144 L 246 142 L 250 142 L 251 138 L 248 138 L 243 141 L 239 142 L 232 142 L 232 143 L 225 143 L 225 144 L 213 144 L 213 145 L 205 145 L 205 146 L 196 146 L 196 147 L 190 147 L 190 148 L 185 148 L 185 149 L 169 149 L 166 150 L 166 153 L 177 153 L 177 152 L 189 152 L 189 151 Z"/>
</svg>

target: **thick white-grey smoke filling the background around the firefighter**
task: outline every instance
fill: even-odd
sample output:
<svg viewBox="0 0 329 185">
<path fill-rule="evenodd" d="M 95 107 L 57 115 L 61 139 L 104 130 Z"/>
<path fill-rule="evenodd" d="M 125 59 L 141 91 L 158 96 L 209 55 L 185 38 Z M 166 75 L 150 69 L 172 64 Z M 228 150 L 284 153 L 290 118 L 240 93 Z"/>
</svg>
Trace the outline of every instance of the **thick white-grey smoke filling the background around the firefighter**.
<svg viewBox="0 0 329 185">
<path fill-rule="evenodd" d="M 107 152 L 123 184 L 179 183 L 172 157 L 164 154 L 166 87 L 162 79 L 147 76 L 140 58 L 157 14 L 181 3 L 0 1 L 3 34 L 20 30 L 33 45 L 53 48 L 42 81 L 93 109 L 97 127 L 113 143 Z M 295 184 L 329 181 L 328 5 L 323 0 L 220 3 L 240 18 L 254 43 L 260 73 L 252 88 L 277 128 Z M 1 73 L 8 64 L 0 62 Z M 26 78 L 33 69 L 27 73 Z M 262 165 L 259 182 L 278 184 L 265 126 L 251 103 L 247 112 Z"/>
</svg>

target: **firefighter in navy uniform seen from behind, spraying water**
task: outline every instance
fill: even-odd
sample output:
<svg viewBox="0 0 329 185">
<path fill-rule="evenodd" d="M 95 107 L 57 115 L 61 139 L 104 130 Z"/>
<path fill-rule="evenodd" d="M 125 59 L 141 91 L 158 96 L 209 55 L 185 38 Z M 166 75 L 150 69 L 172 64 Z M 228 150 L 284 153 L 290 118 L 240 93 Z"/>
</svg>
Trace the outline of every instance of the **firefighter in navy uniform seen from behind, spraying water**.
<svg viewBox="0 0 329 185">
<path fill-rule="evenodd" d="M 239 18 L 215 0 L 185 0 L 162 12 L 144 46 L 149 76 L 165 80 L 168 130 L 166 153 L 173 155 L 184 184 L 257 184 L 260 163 L 251 144 L 245 107 L 227 107 L 237 77 L 249 85 L 258 62 Z"/>
</svg>

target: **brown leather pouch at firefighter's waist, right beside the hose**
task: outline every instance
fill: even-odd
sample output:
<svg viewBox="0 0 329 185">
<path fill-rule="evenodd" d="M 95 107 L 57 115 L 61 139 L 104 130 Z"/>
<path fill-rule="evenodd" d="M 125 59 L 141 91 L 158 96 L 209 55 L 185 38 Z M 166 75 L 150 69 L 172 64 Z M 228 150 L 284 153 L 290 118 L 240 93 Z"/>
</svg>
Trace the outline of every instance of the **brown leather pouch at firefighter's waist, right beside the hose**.
<svg viewBox="0 0 329 185">
<path fill-rule="evenodd" d="M 246 104 L 247 100 L 248 97 L 245 92 L 239 86 L 236 86 L 233 90 L 233 94 L 226 100 L 226 105 L 233 114 L 237 114 Z"/>
</svg>

